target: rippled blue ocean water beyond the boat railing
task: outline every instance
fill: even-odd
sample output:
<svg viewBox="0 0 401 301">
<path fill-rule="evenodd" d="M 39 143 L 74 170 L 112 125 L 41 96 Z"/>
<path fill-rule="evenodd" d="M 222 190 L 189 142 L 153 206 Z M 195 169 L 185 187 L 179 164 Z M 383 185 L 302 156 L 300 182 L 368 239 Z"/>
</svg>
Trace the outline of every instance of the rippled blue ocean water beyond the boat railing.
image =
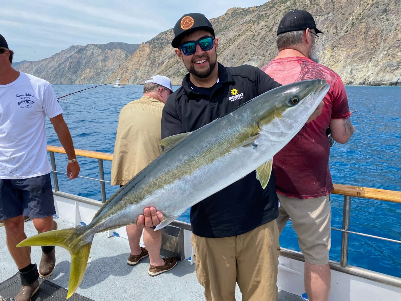
<svg viewBox="0 0 401 301">
<path fill-rule="evenodd" d="M 92 85 L 53 85 L 57 97 Z M 173 87 L 175 90 L 178 87 Z M 118 114 L 131 100 L 142 96 L 143 86 L 101 86 L 60 100 L 75 148 L 113 153 Z M 334 183 L 401 191 L 401 87 L 347 86 L 355 133 L 346 144 L 331 148 L 330 170 Z M 60 146 L 47 121 L 47 140 Z M 55 154 L 57 170 L 65 171 L 67 157 Z M 79 157 L 81 173 L 99 178 L 96 159 Z M 103 161 L 105 179 L 110 181 L 111 162 Z M 61 191 L 101 199 L 98 182 L 67 180 L 59 175 Z M 106 195 L 118 187 L 106 183 Z M 342 227 L 343 197 L 332 195 L 332 227 Z M 189 222 L 189 211 L 179 220 Z M 352 198 L 350 230 L 401 240 L 401 204 Z M 284 248 L 299 250 L 290 223 L 280 237 Z M 340 261 L 341 232 L 332 231 L 330 259 Z M 401 244 L 350 234 L 348 263 L 401 277 Z"/>
</svg>

